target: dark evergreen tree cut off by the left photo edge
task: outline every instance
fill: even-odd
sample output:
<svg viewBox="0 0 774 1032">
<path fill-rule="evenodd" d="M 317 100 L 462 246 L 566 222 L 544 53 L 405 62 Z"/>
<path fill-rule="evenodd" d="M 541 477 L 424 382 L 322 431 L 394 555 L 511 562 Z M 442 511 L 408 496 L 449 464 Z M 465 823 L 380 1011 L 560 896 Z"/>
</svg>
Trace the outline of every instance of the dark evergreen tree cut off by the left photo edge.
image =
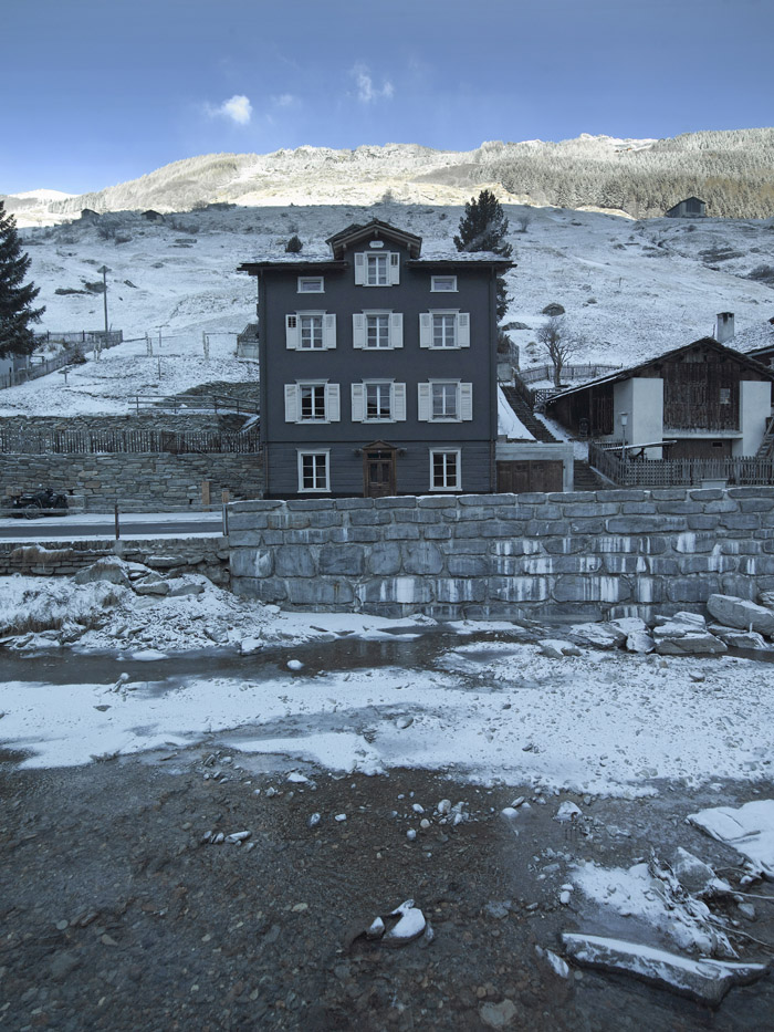
<svg viewBox="0 0 774 1032">
<path fill-rule="evenodd" d="M 32 307 L 40 288 L 24 283 L 30 261 L 21 249 L 17 220 L 0 201 L 0 358 L 29 355 L 35 346 L 29 324 L 39 322 L 45 309 Z"/>
</svg>

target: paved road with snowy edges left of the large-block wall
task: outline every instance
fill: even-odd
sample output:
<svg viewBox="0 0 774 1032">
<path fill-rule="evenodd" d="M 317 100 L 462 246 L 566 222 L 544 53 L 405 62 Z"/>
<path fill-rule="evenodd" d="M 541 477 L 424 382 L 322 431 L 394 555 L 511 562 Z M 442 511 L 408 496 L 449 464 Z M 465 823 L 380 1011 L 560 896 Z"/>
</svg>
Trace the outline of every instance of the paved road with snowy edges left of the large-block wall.
<svg viewBox="0 0 774 1032">
<path fill-rule="evenodd" d="M 213 536 L 222 533 L 220 512 L 132 513 L 119 518 L 122 539 Z M 0 519 L 0 540 L 72 541 L 76 538 L 115 538 L 113 513 L 73 513 L 36 520 Z"/>
</svg>

